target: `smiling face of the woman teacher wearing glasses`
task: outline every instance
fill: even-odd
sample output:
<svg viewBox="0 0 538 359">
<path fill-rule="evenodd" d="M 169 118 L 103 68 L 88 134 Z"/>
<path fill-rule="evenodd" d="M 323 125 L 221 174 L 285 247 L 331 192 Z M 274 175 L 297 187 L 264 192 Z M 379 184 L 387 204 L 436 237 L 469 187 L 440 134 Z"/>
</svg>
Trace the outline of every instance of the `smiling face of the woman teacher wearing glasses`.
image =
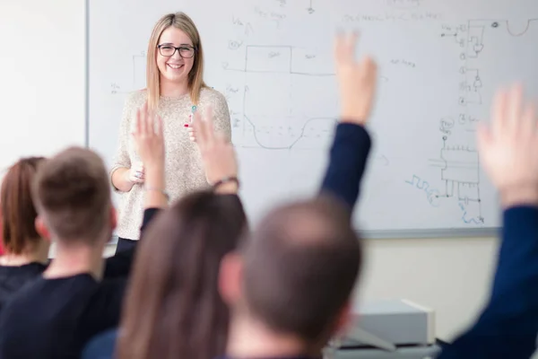
<svg viewBox="0 0 538 359">
<path fill-rule="evenodd" d="M 195 63 L 193 41 L 184 31 L 170 26 L 162 31 L 159 46 L 160 48 L 156 49 L 156 55 L 161 81 L 187 83 L 188 74 Z M 173 55 L 169 56 L 171 53 Z"/>
</svg>

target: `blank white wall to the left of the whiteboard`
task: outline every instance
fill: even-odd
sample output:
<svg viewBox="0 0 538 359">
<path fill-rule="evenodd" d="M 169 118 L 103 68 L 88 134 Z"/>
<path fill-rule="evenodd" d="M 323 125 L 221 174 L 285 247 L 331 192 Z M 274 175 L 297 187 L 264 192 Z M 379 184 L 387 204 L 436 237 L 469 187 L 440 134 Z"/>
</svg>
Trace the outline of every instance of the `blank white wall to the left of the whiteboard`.
<svg viewBox="0 0 538 359">
<path fill-rule="evenodd" d="M 83 0 L 0 1 L 0 169 L 84 144 Z"/>
</svg>

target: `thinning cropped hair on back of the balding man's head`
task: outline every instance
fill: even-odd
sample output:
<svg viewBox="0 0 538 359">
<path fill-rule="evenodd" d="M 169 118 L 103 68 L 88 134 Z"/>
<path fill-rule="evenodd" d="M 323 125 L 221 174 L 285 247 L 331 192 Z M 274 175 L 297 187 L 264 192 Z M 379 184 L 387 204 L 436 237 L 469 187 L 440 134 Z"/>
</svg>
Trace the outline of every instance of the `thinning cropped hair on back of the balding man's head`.
<svg viewBox="0 0 538 359">
<path fill-rule="evenodd" d="M 360 272 L 349 211 L 329 197 L 276 208 L 243 256 L 248 315 L 311 348 L 324 346 Z"/>
</svg>

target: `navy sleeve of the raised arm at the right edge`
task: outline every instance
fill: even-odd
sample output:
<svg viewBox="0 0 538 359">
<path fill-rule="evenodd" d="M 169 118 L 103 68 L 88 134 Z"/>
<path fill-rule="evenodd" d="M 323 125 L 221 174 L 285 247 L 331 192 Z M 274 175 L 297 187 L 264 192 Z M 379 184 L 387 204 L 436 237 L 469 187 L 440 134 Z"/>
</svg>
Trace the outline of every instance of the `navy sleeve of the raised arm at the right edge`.
<svg viewBox="0 0 538 359">
<path fill-rule="evenodd" d="M 439 359 L 529 358 L 538 333 L 538 208 L 504 212 L 502 242 L 490 301 L 472 328 Z"/>
</svg>

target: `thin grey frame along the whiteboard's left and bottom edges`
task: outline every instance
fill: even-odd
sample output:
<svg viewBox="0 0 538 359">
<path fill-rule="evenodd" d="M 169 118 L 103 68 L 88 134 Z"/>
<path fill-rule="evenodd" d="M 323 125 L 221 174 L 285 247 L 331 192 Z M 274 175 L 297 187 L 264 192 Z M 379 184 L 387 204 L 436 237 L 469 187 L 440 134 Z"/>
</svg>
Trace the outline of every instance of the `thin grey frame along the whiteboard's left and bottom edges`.
<svg viewBox="0 0 538 359">
<path fill-rule="evenodd" d="M 86 148 L 90 147 L 90 0 L 84 0 L 85 8 L 85 100 L 84 100 L 84 144 Z M 360 200 L 360 198 L 359 198 Z M 383 231 L 360 231 L 360 237 L 364 240 L 382 240 L 382 239 L 457 239 L 457 238 L 491 238 L 498 237 L 500 227 L 481 227 L 481 228 L 440 228 L 440 229 L 421 229 L 421 230 L 383 230 Z M 111 243 L 117 242 L 117 236 L 114 235 Z"/>
</svg>

